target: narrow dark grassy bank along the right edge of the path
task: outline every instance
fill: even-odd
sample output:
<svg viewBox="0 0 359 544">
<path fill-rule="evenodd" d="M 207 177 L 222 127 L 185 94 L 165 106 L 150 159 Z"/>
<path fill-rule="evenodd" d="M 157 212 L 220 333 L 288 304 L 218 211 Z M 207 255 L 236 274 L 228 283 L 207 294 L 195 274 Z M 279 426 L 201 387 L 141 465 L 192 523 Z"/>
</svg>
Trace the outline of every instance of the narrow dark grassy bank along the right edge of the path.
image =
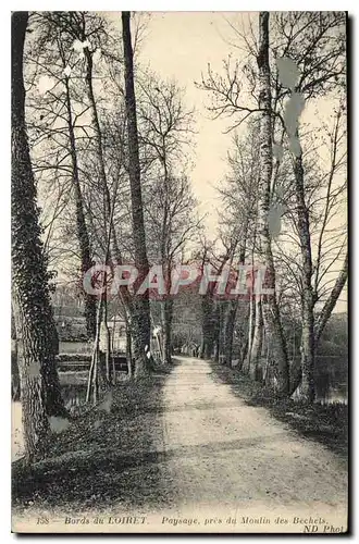
<svg viewBox="0 0 359 544">
<path fill-rule="evenodd" d="M 261 406 L 271 415 L 307 438 L 325 444 L 343 459 L 348 455 L 348 406 L 344 404 L 308 405 L 290 398 L 280 399 L 273 392 L 238 371 L 212 362 L 212 370 L 222 383 L 251 406 Z"/>
</svg>

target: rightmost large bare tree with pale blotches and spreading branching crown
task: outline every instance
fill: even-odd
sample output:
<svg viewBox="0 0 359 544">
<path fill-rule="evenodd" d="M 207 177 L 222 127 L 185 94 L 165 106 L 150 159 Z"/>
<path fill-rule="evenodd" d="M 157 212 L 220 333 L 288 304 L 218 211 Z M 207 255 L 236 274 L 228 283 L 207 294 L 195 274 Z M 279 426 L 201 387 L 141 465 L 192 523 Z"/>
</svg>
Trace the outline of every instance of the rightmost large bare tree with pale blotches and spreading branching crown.
<svg viewBox="0 0 359 544">
<path fill-rule="evenodd" d="M 281 14 L 275 18 L 275 30 L 284 38 L 284 46 L 278 48 L 277 78 L 275 85 L 276 101 L 283 97 L 289 99 L 278 110 L 285 125 L 289 148 L 293 152 L 293 172 L 297 214 L 297 232 L 301 254 L 301 396 L 313 401 L 314 391 L 314 306 L 315 285 L 313 286 L 312 236 L 310 209 L 306 191 L 306 171 L 304 151 L 299 136 L 299 115 L 305 106 L 315 97 L 341 89 L 345 76 L 345 40 L 343 36 L 344 17 L 342 13 L 304 13 L 285 20 Z M 308 36 L 308 27 L 313 36 Z M 289 32 L 288 32 L 289 30 Z M 294 32 L 295 30 L 295 32 Z M 283 44 L 283 42 L 282 42 Z M 292 74 L 290 74 L 292 72 Z M 339 121 L 341 114 L 338 115 Z M 336 125 L 336 128 L 338 125 Z M 333 135 L 337 141 L 337 132 Z M 336 145 L 335 145 L 336 150 Z M 334 169 L 337 168 L 334 154 Z M 333 174 L 332 174 L 333 177 Z M 331 191 L 331 176 L 327 190 Z M 323 228 L 326 213 L 324 212 Z M 322 231 L 323 232 L 323 231 Z M 321 246 L 319 239 L 319 251 Z M 319 270 L 317 268 L 317 270 Z"/>
</svg>

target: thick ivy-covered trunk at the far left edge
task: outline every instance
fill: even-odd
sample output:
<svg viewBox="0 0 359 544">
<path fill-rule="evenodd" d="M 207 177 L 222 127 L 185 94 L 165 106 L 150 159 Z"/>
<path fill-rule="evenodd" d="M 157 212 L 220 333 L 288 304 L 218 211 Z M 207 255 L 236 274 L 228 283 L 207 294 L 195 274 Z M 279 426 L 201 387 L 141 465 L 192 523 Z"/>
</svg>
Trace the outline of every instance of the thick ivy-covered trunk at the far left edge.
<svg viewBox="0 0 359 544">
<path fill-rule="evenodd" d="M 13 310 L 20 361 L 25 457 L 41 452 L 48 432 L 47 415 L 64 413 L 55 368 L 54 321 L 49 275 L 42 252 L 36 186 L 25 125 L 23 53 L 27 12 L 12 14 L 11 74 L 11 211 Z"/>
</svg>

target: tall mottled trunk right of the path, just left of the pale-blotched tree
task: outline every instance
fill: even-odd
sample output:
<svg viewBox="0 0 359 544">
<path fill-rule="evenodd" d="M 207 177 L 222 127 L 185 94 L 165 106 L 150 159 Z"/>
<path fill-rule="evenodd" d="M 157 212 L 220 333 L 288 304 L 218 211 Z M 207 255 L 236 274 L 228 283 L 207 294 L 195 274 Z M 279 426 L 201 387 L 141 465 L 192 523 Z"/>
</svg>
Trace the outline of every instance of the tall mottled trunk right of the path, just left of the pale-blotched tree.
<svg viewBox="0 0 359 544">
<path fill-rule="evenodd" d="M 287 395 L 289 378 L 288 361 L 275 297 L 275 270 L 268 223 L 273 170 L 269 12 L 260 12 L 259 14 L 257 62 L 259 69 L 259 104 L 262 110 L 260 118 L 261 144 L 259 158 L 261 165 L 259 178 L 259 235 L 268 273 L 268 287 L 274 289 L 274 295 L 270 296 L 265 302 L 262 302 L 262 311 L 267 336 L 271 339 L 272 357 L 277 366 L 276 392 L 278 395 Z"/>
</svg>

